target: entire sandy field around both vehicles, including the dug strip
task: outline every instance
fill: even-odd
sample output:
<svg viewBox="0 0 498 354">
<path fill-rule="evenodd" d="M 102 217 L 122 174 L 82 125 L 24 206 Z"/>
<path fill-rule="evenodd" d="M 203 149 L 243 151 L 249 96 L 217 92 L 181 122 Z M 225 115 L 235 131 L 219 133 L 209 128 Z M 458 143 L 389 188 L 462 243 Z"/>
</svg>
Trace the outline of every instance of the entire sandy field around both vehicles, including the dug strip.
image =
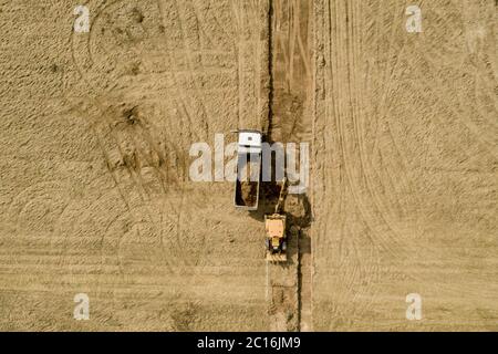
<svg viewBox="0 0 498 354">
<path fill-rule="evenodd" d="M 421 1 L 423 33 L 401 0 L 83 2 L 90 33 L 0 1 L 0 330 L 498 330 L 495 1 Z M 311 144 L 284 267 L 271 186 L 189 180 L 237 127 Z"/>
</svg>

